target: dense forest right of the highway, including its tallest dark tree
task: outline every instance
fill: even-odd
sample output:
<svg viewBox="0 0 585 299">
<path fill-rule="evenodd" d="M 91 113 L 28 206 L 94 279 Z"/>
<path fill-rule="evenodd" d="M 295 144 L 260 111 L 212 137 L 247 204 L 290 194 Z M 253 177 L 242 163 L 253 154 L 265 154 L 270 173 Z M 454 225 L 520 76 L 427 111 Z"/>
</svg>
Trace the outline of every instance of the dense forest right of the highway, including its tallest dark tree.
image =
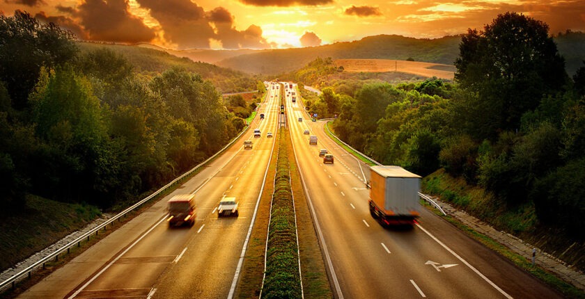
<svg viewBox="0 0 585 299">
<path fill-rule="evenodd" d="M 455 83 L 313 82 L 328 87 L 305 99 L 309 112 L 337 116 L 336 134 L 385 165 L 444 171 L 490 193 L 492 211 L 533 215 L 517 229 L 584 241 L 585 65 L 568 76 L 547 24 L 515 13 L 470 29 L 459 49 Z M 335 72 L 318 58 L 290 76 Z"/>
</svg>

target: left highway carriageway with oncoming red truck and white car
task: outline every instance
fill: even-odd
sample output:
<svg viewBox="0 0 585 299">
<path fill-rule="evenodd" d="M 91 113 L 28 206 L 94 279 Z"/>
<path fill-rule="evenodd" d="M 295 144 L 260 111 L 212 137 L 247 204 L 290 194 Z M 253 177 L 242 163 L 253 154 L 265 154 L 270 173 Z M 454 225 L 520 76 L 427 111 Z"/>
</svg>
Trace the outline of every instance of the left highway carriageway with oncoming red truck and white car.
<svg viewBox="0 0 585 299">
<path fill-rule="evenodd" d="M 258 108 L 265 119 L 255 118 L 224 154 L 20 298 L 227 298 L 276 140 L 266 134 L 276 133 L 279 101 L 279 89 L 269 88 Z M 166 201 L 184 193 L 195 194 L 196 223 L 171 228 Z M 223 196 L 239 201 L 237 218 L 217 217 Z"/>
</svg>

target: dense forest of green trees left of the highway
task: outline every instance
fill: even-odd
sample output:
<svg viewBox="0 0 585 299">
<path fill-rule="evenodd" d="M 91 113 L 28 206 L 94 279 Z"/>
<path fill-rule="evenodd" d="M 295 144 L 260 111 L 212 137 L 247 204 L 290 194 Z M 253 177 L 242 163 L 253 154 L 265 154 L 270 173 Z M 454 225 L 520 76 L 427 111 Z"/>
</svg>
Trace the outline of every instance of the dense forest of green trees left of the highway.
<svg viewBox="0 0 585 299">
<path fill-rule="evenodd" d="M 3 213 L 25 209 L 29 194 L 102 208 L 132 200 L 214 154 L 244 127 L 201 74 L 181 65 L 163 70 L 156 59 L 148 69 L 147 58 L 132 64 L 98 46 L 80 45 L 28 13 L 0 16 Z M 205 74 L 215 82 L 240 76 L 214 66 Z"/>
</svg>

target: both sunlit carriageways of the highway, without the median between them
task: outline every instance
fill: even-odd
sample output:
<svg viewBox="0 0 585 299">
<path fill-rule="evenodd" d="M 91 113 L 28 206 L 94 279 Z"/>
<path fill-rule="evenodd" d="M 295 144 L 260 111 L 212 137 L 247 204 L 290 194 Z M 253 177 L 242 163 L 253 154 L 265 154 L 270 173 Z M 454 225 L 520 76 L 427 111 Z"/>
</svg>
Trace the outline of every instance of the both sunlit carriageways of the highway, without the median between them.
<svg viewBox="0 0 585 299">
<path fill-rule="evenodd" d="M 258 109 L 265 119 L 257 117 L 208 167 L 20 298 L 228 298 L 276 140 L 266 134 L 276 135 L 279 92 L 268 88 Z M 337 298 L 561 298 L 426 209 L 412 229 L 382 228 L 368 210 L 368 166 L 325 135 L 325 122 L 312 122 L 299 101 L 285 95 L 287 125 Z M 256 128 L 260 138 L 253 137 Z M 310 135 L 318 136 L 318 145 L 309 145 Z M 243 149 L 243 140 L 252 140 L 253 149 Z M 334 154 L 333 164 L 322 163 L 321 148 Z M 185 193 L 195 195 L 196 223 L 170 228 L 166 200 Z M 224 196 L 239 200 L 237 218 L 217 217 Z"/>
</svg>

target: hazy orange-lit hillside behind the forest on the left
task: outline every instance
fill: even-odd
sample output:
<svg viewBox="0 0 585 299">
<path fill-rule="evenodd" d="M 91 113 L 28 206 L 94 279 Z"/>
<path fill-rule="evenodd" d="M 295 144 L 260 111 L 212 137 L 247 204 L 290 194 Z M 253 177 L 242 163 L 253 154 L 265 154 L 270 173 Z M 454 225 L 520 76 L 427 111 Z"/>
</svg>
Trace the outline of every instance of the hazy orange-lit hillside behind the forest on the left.
<svg viewBox="0 0 585 299">
<path fill-rule="evenodd" d="M 122 54 L 139 73 L 157 74 L 173 66 L 182 67 L 190 72 L 201 74 L 203 79 L 212 81 L 219 92 L 254 90 L 257 87 L 257 79 L 250 74 L 210 63 L 194 62 L 189 58 L 180 58 L 167 53 L 169 50 L 154 45 L 117 45 L 98 42 L 78 42 L 77 45 L 81 51 L 91 51 L 100 47 L 111 49 Z"/>
</svg>

